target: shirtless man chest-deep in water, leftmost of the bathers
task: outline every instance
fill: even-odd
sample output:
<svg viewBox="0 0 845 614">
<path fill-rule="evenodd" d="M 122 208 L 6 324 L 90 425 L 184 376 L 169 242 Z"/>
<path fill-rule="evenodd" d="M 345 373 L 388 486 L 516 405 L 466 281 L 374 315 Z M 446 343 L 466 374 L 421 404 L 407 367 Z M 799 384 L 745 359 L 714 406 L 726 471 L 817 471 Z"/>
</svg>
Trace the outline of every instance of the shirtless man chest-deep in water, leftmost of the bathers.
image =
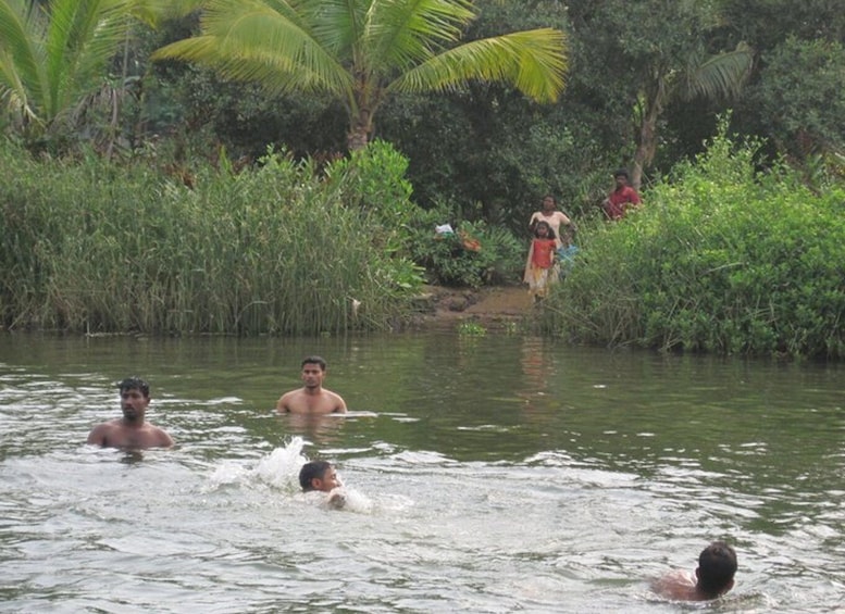
<svg viewBox="0 0 845 614">
<path fill-rule="evenodd" d="M 173 438 L 145 421 L 150 404 L 150 386 L 139 377 L 120 383 L 122 418 L 98 424 L 88 435 L 88 443 L 103 448 L 170 448 Z"/>
</svg>

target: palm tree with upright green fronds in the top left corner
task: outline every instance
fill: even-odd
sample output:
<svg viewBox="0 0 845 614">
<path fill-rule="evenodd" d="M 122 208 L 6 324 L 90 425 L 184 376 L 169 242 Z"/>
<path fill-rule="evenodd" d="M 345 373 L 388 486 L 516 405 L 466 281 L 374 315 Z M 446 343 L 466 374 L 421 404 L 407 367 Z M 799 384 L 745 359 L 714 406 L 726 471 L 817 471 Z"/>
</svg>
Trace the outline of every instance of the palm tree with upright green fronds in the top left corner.
<svg viewBox="0 0 845 614">
<path fill-rule="evenodd" d="M 100 106 L 113 134 L 129 75 L 124 63 L 110 79 L 110 62 L 125 51 L 138 21 L 154 25 L 196 1 L 0 0 L 0 126 L 32 141 L 78 127 Z"/>
</svg>

